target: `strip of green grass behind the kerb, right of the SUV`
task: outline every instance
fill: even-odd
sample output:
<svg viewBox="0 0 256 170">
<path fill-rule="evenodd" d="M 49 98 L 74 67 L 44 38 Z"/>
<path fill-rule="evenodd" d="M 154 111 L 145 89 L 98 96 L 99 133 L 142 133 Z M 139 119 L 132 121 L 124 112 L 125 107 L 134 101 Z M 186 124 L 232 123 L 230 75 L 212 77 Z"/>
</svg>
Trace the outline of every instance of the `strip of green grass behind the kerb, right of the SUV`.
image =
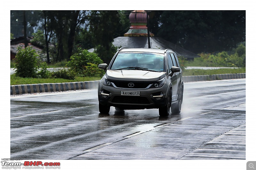
<svg viewBox="0 0 256 170">
<path fill-rule="evenodd" d="M 213 74 L 236 74 L 245 73 L 245 68 L 239 69 L 215 69 L 215 70 L 203 70 L 203 69 L 189 69 L 183 70 L 183 76 L 201 76 L 201 75 L 213 75 Z"/>
</svg>

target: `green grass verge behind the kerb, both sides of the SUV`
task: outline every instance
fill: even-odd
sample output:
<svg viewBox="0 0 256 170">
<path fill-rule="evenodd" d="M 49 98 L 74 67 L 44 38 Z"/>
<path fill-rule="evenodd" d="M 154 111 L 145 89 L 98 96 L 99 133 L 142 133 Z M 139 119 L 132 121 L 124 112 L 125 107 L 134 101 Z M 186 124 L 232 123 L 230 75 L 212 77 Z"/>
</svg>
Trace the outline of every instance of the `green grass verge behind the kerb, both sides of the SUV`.
<svg viewBox="0 0 256 170">
<path fill-rule="evenodd" d="M 213 75 L 213 74 L 236 74 L 245 73 L 245 68 L 240 69 L 216 69 L 216 70 L 202 70 L 191 69 L 183 70 L 183 76 L 199 76 L 199 75 Z M 68 82 L 82 82 L 100 80 L 101 77 L 77 77 L 74 80 L 62 78 L 20 78 L 15 74 L 11 75 L 11 85 L 26 85 L 26 84 L 41 84 L 41 83 L 68 83 Z"/>
</svg>

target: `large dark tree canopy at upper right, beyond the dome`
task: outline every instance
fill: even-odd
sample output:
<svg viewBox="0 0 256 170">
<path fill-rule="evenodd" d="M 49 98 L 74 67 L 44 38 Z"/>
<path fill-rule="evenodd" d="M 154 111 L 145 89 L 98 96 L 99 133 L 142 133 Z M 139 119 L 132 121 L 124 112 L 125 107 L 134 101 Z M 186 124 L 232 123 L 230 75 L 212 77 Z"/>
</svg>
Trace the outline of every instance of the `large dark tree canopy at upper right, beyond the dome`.
<svg viewBox="0 0 256 170">
<path fill-rule="evenodd" d="M 245 41 L 245 11 L 163 11 L 159 18 L 157 35 L 194 53 Z"/>
</svg>

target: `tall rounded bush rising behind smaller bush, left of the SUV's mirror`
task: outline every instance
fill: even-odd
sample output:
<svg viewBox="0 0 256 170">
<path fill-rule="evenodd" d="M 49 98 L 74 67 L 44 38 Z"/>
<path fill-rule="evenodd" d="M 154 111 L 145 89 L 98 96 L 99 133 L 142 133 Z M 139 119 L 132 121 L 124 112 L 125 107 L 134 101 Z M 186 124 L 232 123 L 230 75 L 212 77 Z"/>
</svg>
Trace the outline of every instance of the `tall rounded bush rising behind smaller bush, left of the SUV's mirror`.
<svg viewBox="0 0 256 170">
<path fill-rule="evenodd" d="M 70 61 L 68 62 L 68 67 L 71 70 L 74 70 L 78 74 L 83 74 L 88 63 L 99 65 L 103 63 L 103 61 L 98 57 L 95 53 L 90 53 L 88 50 L 83 50 L 82 48 L 78 48 L 78 52 L 70 57 Z"/>
</svg>

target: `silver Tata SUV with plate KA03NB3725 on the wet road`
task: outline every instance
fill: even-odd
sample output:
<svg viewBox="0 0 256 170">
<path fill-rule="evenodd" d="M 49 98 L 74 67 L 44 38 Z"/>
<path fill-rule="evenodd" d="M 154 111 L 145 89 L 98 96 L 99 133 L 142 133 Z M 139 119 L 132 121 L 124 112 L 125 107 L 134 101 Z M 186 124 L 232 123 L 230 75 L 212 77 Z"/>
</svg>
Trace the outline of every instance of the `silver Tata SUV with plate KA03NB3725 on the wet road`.
<svg viewBox="0 0 256 170">
<path fill-rule="evenodd" d="M 171 49 L 120 48 L 98 85 L 99 111 L 159 108 L 160 116 L 178 114 L 183 99 L 182 70 Z"/>
</svg>

